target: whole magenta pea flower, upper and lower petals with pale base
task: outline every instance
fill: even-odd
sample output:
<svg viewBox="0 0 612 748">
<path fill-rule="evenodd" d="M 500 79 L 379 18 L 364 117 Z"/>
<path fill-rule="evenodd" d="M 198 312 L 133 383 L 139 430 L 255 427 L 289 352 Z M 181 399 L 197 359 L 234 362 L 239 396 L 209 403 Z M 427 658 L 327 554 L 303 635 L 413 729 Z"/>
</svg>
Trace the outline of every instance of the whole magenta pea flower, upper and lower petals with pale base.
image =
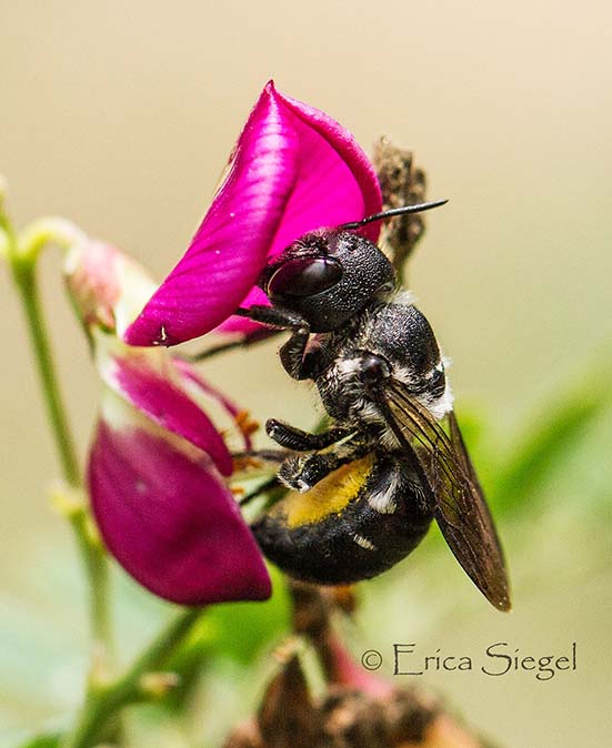
<svg viewBox="0 0 612 748">
<path fill-rule="evenodd" d="M 133 346 L 258 328 L 230 317 L 241 304 L 267 303 L 255 284 L 269 257 L 309 231 L 380 209 L 375 173 L 350 133 L 269 83 L 159 289 L 117 250 L 73 250 L 69 289 L 106 385 L 89 464 L 93 513 L 110 552 L 157 595 L 190 605 L 263 599 L 270 579 L 228 487 L 231 454 L 207 415 L 213 405 L 235 421 L 235 406 L 168 351 Z M 373 241 L 378 232 L 363 229 Z"/>
</svg>

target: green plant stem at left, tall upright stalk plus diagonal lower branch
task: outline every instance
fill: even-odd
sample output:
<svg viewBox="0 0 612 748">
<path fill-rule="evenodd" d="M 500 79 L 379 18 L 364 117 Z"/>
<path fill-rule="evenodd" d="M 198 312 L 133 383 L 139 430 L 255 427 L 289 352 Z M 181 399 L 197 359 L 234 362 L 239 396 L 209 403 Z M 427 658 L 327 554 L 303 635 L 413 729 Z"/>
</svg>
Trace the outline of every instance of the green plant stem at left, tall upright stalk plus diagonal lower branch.
<svg viewBox="0 0 612 748">
<path fill-rule="evenodd" d="M 79 463 L 59 388 L 36 275 L 37 260 L 42 246 L 54 242 L 68 249 L 76 233 L 73 228 L 66 222 L 48 220 L 32 224 L 18 239 L 2 210 L 1 200 L 0 229 L 4 234 L 4 253 L 26 314 L 62 475 L 68 484 L 61 491 L 56 492 L 54 499 L 74 530 L 89 580 L 92 638 L 94 644 L 102 645 L 103 654 L 107 654 L 110 646 L 107 556 L 89 511 L 82 501 Z M 192 630 L 200 614 L 201 608 L 182 610 L 132 667 L 111 684 L 104 683 L 104 668 L 97 667 L 94 650 L 86 701 L 73 731 L 63 741 L 64 748 L 90 748 L 100 739 L 116 735 L 121 708 L 151 697 L 151 694 L 148 694 L 142 686 L 142 676 L 155 673 L 163 667 L 175 648 Z"/>
</svg>

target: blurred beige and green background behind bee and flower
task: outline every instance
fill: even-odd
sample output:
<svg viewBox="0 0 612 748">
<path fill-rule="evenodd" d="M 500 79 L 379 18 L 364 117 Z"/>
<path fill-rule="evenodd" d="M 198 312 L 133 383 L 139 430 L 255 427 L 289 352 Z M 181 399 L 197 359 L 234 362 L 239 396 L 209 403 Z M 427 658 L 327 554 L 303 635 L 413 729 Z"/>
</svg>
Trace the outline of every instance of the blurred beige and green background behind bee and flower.
<svg viewBox="0 0 612 748">
<path fill-rule="evenodd" d="M 478 658 L 500 640 L 535 656 L 565 654 L 576 641 L 578 670 L 550 681 L 474 671 L 427 683 L 501 745 L 605 745 L 610 4 L 47 0 L 3 2 L 1 11 L 0 172 L 13 218 L 67 216 L 159 279 L 185 247 L 269 78 L 364 146 L 388 134 L 414 151 L 430 196 L 450 203 L 428 216 L 411 286 L 453 360 L 458 410 L 505 542 L 515 609 L 489 609 L 432 534 L 361 586 L 352 644 L 355 653 L 385 653 L 393 641 L 415 641 L 423 654 Z M 98 383 L 58 261 L 42 262 L 44 295 L 84 455 Z M 0 726 L 14 745 L 74 708 L 87 625 L 71 537 L 46 499 L 57 466 L 7 273 L 0 285 Z M 259 418 L 309 427 L 313 397 L 287 378 L 274 350 L 251 352 L 248 376 L 243 354 L 211 363 L 209 375 Z M 128 655 L 168 608 L 121 575 L 117 584 Z M 163 709 L 134 711 L 134 742 L 217 745 L 254 704 L 265 664 L 253 678 L 244 668 L 264 659 L 275 640 L 269 627 L 280 630 L 283 620 L 280 597 L 240 615 L 215 613 L 202 633 L 211 675 L 191 720 L 178 728 Z"/>
</svg>

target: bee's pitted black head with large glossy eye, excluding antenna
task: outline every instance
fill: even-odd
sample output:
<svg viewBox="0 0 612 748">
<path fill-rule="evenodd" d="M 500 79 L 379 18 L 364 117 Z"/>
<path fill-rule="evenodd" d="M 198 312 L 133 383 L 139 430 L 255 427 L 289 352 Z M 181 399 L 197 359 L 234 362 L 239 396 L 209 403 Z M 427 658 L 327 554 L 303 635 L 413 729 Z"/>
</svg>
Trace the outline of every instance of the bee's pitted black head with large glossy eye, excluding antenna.
<svg viewBox="0 0 612 748">
<path fill-rule="evenodd" d="M 259 284 L 272 304 L 298 312 L 312 332 L 329 332 L 389 293 L 395 273 L 375 244 L 339 229 L 293 242 L 268 265 Z"/>
</svg>

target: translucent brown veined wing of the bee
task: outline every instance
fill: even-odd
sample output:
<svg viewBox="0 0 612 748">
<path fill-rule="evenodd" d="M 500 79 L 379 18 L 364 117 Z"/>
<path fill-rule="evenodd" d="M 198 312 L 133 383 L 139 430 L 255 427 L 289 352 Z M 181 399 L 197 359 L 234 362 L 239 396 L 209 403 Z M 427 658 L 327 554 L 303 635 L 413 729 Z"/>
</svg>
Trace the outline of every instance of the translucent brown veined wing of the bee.
<svg viewBox="0 0 612 748">
<path fill-rule="evenodd" d="M 449 434 L 431 413 L 397 381 L 383 391 L 385 417 L 414 456 L 433 495 L 433 513 L 442 534 L 468 576 L 500 610 L 510 610 L 502 548 L 454 413 Z"/>
</svg>

